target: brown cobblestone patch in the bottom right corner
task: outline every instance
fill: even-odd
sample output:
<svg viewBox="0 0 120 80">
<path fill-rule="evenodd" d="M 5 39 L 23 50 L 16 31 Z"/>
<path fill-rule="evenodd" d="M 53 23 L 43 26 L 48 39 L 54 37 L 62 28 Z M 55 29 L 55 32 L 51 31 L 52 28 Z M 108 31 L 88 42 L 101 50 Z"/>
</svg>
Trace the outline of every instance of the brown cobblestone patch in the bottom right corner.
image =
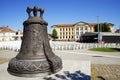
<svg viewBox="0 0 120 80">
<path fill-rule="evenodd" d="M 97 80 L 120 80 L 120 65 L 92 64 L 91 68 Z"/>
</svg>

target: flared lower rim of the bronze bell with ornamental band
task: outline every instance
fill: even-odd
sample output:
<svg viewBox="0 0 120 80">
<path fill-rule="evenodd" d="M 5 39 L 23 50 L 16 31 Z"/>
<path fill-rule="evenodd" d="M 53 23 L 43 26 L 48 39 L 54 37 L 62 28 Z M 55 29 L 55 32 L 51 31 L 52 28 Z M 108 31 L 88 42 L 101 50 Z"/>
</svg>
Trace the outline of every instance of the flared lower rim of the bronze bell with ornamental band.
<svg viewBox="0 0 120 80">
<path fill-rule="evenodd" d="M 62 69 L 62 61 L 58 56 L 54 56 L 49 60 L 19 60 L 13 58 L 8 64 L 7 71 L 18 77 L 45 77 Z"/>
</svg>

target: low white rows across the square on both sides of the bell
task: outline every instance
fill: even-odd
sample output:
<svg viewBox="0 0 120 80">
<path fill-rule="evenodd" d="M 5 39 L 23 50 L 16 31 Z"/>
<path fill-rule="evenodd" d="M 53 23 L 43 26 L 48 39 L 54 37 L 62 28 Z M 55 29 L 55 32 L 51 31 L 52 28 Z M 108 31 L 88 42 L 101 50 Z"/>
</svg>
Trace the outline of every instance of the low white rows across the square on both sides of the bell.
<svg viewBox="0 0 120 80">
<path fill-rule="evenodd" d="M 53 50 L 80 50 L 89 48 L 120 48 L 120 43 L 77 43 L 77 42 L 58 42 L 50 41 L 51 48 Z M 21 41 L 7 41 L 0 42 L 0 50 L 13 50 L 19 51 L 21 46 Z"/>
</svg>

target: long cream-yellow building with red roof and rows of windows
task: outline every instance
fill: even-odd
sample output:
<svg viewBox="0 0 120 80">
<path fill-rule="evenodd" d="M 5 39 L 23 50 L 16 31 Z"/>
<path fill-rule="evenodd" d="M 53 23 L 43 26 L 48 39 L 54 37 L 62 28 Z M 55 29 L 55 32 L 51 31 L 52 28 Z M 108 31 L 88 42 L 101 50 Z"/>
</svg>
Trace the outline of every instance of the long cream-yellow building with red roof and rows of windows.
<svg viewBox="0 0 120 80">
<path fill-rule="evenodd" d="M 56 29 L 58 33 L 58 39 L 60 41 L 77 41 L 80 35 L 85 32 L 94 32 L 94 26 L 96 23 L 78 22 L 75 24 L 57 24 L 52 26 L 52 30 Z M 113 25 L 110 25 L 110 29 L 113 32 Z"/>
</svg>

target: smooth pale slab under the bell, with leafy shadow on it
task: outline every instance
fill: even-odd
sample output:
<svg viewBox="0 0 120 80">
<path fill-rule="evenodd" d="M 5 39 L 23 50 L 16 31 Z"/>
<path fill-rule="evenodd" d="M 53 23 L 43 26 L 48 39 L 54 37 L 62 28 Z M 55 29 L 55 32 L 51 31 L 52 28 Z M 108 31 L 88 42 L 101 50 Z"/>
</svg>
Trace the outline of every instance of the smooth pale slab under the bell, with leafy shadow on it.
<svg viewBox="0 0 120 80">
<path fill-rule="evenodd" d="M 8 62 L 0 64 L 0 80 L 90 80 L 90 61 L 63 60 L 63 69 L 46 77 L 24 78 L 8 74 Z"/>
</svg>

